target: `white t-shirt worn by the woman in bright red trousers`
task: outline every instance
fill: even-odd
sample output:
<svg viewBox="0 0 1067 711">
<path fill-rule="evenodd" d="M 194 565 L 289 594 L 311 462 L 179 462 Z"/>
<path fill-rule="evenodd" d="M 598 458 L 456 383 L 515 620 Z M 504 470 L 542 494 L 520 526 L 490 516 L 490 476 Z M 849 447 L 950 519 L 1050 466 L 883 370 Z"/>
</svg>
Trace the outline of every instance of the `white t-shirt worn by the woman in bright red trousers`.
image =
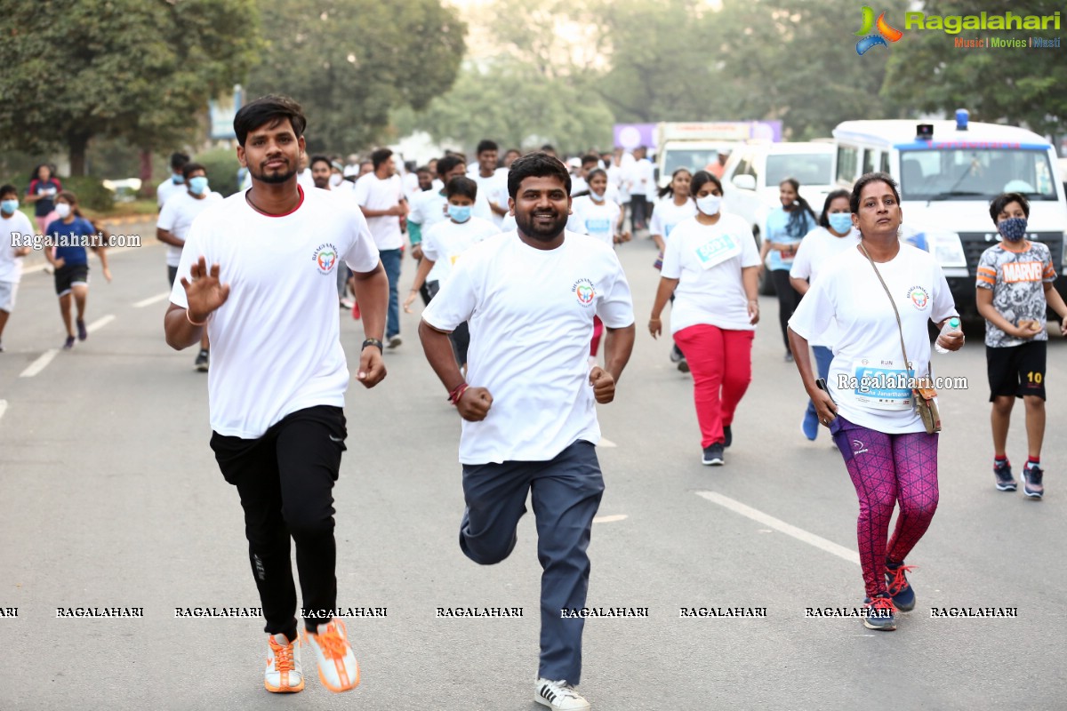
<svg viewBox="0 0 1067 711">
<path fill-rule="evenodd" d="M 727 330 L 754 330 L 742 269 L 760 265 L 755 238 L 744 219 L 720 214 L 714 225 L 696 217 L 671 230 L 660 272 L 678 279 L 670 311 L 670 333 L 707 324 Z"/>
</svg>

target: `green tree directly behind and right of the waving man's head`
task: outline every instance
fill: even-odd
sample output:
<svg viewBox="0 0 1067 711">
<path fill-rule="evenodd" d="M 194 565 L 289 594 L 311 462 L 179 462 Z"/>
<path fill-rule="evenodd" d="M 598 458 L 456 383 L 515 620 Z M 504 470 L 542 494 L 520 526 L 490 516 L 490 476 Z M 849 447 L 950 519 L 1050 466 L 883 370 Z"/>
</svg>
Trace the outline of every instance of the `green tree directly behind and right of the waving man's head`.
<svg viewBox="0 0 1067 711">
<path fill-rule="evenodd" d="M 313 151 L 379 140 L 392 109 L 448 91 L 465 47 L 466 26 L 440 0 L 270 2 L 262 21 L 269 46 L 246 95 L 299 101 Z"/>
</svg>

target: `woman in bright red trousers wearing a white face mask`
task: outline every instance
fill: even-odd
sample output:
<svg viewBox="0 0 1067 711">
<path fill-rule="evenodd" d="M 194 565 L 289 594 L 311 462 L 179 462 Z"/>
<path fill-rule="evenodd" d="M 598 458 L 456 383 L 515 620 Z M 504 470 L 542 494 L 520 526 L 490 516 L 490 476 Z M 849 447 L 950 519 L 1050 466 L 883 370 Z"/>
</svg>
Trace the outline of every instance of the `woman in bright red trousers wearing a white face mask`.
<svg viewBox="0 0 1067 711">
<path fill-rule="evenodd" d="M 752 381 L 760 252 L 745 221 L 719 211 L 718 178 L 699 171 L 690 193 L 698 212 L 680 222 L 665 245 L 649 332 L 653 338 L 663 333 L 659 314 L 673 294 L 671 335 L 692 372 L 701 462 L 721 465 L 734 411 Z"/>
</svg>

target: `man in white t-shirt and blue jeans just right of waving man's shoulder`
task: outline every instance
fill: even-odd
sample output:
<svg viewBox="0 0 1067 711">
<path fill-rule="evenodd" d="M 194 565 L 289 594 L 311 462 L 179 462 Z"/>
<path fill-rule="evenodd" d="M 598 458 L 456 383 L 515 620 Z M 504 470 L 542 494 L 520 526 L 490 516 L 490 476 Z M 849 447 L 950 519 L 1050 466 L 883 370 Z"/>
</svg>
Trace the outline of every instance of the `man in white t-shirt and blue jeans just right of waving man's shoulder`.
<svg viewBox="0 0 1067 711">
<path fill-rule="evenodd" d="M 401 221 L 408 214 L 403 182 L 397 175 L 393 151 L 379 148 L 370 153 L 375 169 L 355 181 L 355 201 L 363 209 L 367 226 L 382 256 L 385 274 L 389 277 L 389 310 L 385 322 L 385 340 L 391 349 L 400 345 L 400 259 L 403 256 Z M 356 300 L 359 301 L 359 300 Z M 360 306 L 361 310 L 363 306 Z"/>
</svg>

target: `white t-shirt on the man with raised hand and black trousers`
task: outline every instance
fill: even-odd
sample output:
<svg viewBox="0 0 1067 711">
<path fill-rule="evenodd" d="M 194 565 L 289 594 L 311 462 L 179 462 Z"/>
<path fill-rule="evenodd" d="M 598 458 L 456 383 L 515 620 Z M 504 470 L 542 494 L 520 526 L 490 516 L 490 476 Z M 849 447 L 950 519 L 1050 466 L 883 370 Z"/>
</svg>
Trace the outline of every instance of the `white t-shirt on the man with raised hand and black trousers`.
<svg viewBox="0 0 1067 711">
<path fill-rule="evenodd" d="M 296 210 L 276 217 L 235 193 L 202 212 L 186 239 L 171 302 L 188 306 L 180 277 L 201 256 L 218 263 L 229 285 L 207 326 L 208 404 L 221 435 L 255 439 L 297 410 L 345 406 L 336 270 L 344 259 L 354 272 L 370 272 L 378 249 L 351 199 L 302 193 Z"/>
</svg>

